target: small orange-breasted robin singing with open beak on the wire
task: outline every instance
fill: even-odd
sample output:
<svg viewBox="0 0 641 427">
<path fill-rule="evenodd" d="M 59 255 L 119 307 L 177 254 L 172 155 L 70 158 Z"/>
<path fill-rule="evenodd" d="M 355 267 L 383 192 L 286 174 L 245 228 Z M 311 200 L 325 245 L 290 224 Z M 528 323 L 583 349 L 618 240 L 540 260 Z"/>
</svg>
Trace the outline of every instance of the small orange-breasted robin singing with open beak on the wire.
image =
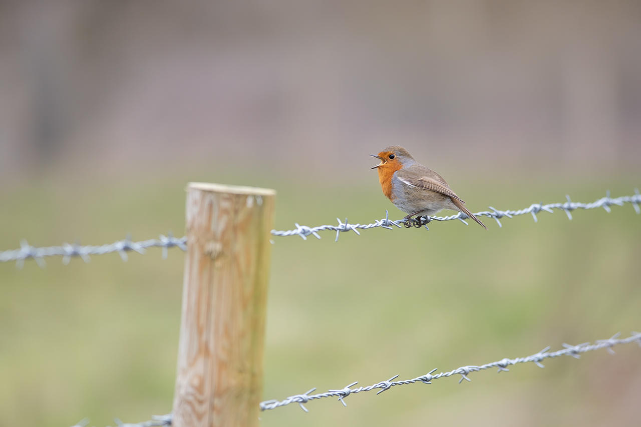
<svg viewBox="0 0 641 427">
<path fill-rule="evenodd" d="M 487 230 L 485 224 L 465 208 L 465 202 L 454 194 L 437 172 L 418 163 L 403 147 L 390 146 L 378 155 L 370 156 L 381 160 L 370 169 L 378 169 L 378 181 L 383 194 L 394 206 L 408 213 L 404 219 L 451 209 L 465 213 Z"/>
</svg>

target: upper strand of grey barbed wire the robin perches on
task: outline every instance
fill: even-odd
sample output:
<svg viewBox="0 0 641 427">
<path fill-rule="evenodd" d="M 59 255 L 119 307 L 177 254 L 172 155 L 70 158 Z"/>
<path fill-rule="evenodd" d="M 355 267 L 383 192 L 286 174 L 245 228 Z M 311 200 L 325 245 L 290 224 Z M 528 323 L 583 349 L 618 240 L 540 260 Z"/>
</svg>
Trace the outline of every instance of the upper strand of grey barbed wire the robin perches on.
<svg viewBox="0 0 641 427">
<path fill-rule="evenodd" d="M 502 227 L 500 219 L 507 217 L 512 218 L 519 215 L 526 215 L 530 213 L 535 222 L 538 221 L 537 213 L 545 211 L 553 213 L 554 210 L 563 210 L 568 219 L 572 219 L 572 211 L 577 209 L 595 209 L 603 208 L 606 212 L 611 212 L 610 206 L 623 206 L 626 203 L 630 203 L 637 213 L 641 213 L 641 194 L 638 190 L 635 190 L 635 194 L 631 196 L 621 196 L 612 198 L 610 197 L 610 192 L 607 192 L 605 197 L 601 197 L 592 203 L 580 203 L 573 202 L 570 200 L 570 196 L 566 196 L 567 201 L 563 203 L 549 203 L 543 205 L 542 203 L 533 203 L 527 208 L 520 210 L 497 210 L 490 206 L 490 210 L 474 213 L 477 217 L 488 217 L 494 219 L 499 227 Z M 389 219 L 389 213 L 385 211 L 385 218 L 376 220 L 370 224 L 350 224 L 345 219 L 345 222 L 342 222 L 337 218 L 338 225 L 321 225 L 321 226 L 304 226 L 299 224 L 294 224 L 296 228 L 292 230 L 272 230 L 271 233 L 274 236 L 278 237 L 288 237 L 288 236 L 300 236 L 304 240 L 307 240 L 309 235 L 313 235 L 317 239 L 320 239 L 319 231 L 336 231 L 336 241 L 340 233 L 346 233 L 347 231 L 354 231 L 354 233 L 360 235 L 358 230 L 369 230 L 370 228 L 387 228 L 392 230 L 392 226 L 398 228 L 406 227 L 422 227 L 428 228 L 427 224 L 431 221 L 451 221 L 458 219 L 467 225 L 465 219 L 467 215 L 465 213 L 457 213 L 456 215 L 450 215 L 449 217 L 422 217 L 419 220 L 406 220 L 399 219 L 396 221 Z M 28 244 L 26 240 L 22 240 L 20 249 L 11 249 L 8 251 L 0 251 L 0 262 L 17 262 L 18 267 L 24 265 L 24 260 L 33 259 L 37 262 L 40 267 L 44 267 L 45 262 L 44 258 L 47 256 L 62 256 L 62 262 L 68 264 L 71 258 L 80 257 L 85 262 L 89 261 L 90 255 L 104 255 L 107 253 L 117 252 L 120 254 L 123 261 L 128 260 L 127 253 L 129 251 L 136 251 L 137 253 L 144 254 L 146 249 L 149 247 L 162 247 L 163 249 L 163 258 L 167 258 L 167 249 L 170 247 L 179 247 L 183 251 L 187 251 L 187 237 L 173 237 L 172 233 L 165 235 L 160 235 L 158 239 L 149 239 L 142 240 L 140 242 L 133 242 L 130 237 L 127 237 L 124 240 L 118 240 L 112 244 L 104 244 L 101 246 L 80 246 L 78 244 L 63 244 L 62 246 L 49 246 L 49 247 L 34 247 Z"/>
</svg>

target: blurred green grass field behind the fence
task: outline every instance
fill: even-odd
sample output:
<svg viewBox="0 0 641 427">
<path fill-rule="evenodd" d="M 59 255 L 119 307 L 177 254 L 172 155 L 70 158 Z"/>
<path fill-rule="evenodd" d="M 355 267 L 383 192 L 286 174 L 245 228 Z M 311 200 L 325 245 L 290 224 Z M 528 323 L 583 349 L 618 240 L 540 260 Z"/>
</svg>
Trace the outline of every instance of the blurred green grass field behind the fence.
<svg viewBox="0 0 641 427">
<path fill-rule="evenodd" d="M 299 183 L 280 178 L 220 181 L 278 190 L 276 228 L 390 217 L 374 183 Z M 196 177 L 192 180 L 207 180 Z M 211 178 L 209 178 L 211 179 Z M 0 249 L 21 239 L 49 246 L 148 239 L 184 227 L 187 180 L 60 182 L 2 190 Z M 594 201 L 606 189 L 631 194 L 638 181 L 460 178 L 472 212 L 542 201 Z M 369 230 L 322 240 L 275 238 L 265 348 L 264 398 L 285 398 L 394 374 L 525 356 L 544 346 L 603 339 L 641 328 L 641 216 L 631 206 L 504 219 L 490 230 L 460 222 L 425 230 Z M 94 256 L 89 264 L 47 260 L 18 270 L 0 264 L 0 413 L 4 425 L 91 425 L 142 421 L 171 410 L 183 254 Z M 641 390 L 638 349 L 580 361 L 549 360 L 509 374 L 472 374 L 380 396 L 308 403 L 261 414 L 263 426 L 341 424 L 631 424 Z M 501 414 L 500 416 L 497 414 Z M 606 421 L 607 420 L 607 421 Z"/>
</svg>

